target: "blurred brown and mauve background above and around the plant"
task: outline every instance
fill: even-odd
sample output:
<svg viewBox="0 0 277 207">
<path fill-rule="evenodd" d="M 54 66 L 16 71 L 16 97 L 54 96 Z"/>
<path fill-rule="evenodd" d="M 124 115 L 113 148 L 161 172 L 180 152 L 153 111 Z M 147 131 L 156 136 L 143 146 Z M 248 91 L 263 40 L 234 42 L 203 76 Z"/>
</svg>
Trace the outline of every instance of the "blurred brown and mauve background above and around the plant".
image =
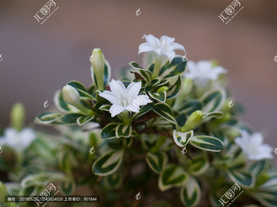
<svg viewBox="0 0 277 207">
<path fill-rule="evenodd" d="M 47 0 L 0 2 L 1 125 L 8 126 L 15 102 L 24 103 L 31 123 L 68 81 L 89 86 L 93 48 L 102 49 L 117 79 L 130 61 L 142 64 L 143 34 L 167 35 L 189 60 L 216 59 L 229 70 L 233 104 L 245 106 L 242 119 L 277 147 L 276 1 L 239 0 L 243 9 L 227 25 L 218 16 L 232 0 L 54 1 L 58 9 L 43 24 L 34 15 Z"/>
</svg>

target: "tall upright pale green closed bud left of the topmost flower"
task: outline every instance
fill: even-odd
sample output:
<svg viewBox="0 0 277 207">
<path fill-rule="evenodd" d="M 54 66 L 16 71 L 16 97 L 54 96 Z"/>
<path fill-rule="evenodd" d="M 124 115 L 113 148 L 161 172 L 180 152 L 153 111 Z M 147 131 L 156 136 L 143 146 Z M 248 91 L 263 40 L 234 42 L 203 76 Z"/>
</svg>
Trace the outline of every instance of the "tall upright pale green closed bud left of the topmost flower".
<svg viewBox="0 0 277 207">
<path fill-rule="evenodd" d="M 91 78 L 98 90 L 104 90 L 105 57 L 99 48 L 94 48 L 91 55 L 94 55 L 90 68 Z M 94 75 L 96 80 L 94 80 Z"/>
</svg>

